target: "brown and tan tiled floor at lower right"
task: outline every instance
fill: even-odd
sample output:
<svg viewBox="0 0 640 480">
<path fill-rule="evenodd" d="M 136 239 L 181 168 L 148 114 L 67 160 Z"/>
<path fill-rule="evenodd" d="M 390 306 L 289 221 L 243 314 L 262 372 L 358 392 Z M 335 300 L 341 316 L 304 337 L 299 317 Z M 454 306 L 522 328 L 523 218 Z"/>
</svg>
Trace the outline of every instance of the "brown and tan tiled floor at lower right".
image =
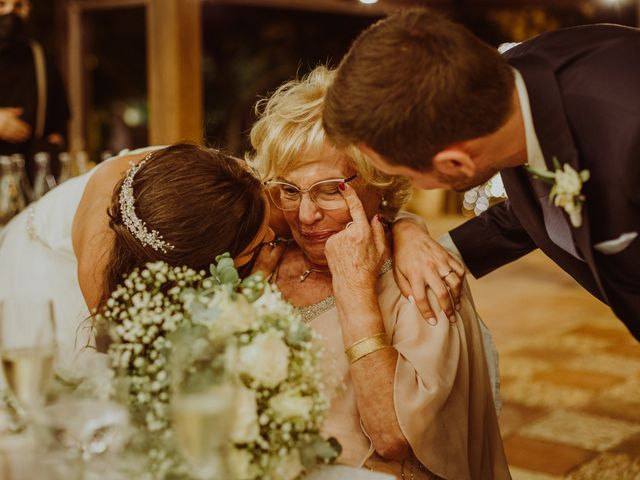
<svg viewBox="0 0 640 480">
<path fill-rule="evenodd" d="M 513 478 L 639 480 L 640 343 L 540 252 L 470 283 L 500 351 Z"/>
</svg>

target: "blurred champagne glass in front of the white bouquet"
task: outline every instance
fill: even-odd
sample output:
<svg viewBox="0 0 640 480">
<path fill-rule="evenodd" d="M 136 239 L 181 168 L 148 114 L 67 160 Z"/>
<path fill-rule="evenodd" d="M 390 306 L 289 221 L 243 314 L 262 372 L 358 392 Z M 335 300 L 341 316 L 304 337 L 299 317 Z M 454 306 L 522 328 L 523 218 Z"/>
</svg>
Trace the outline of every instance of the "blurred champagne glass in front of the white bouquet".
<svg viewBox="0 0 640 480">
<path fill-rule="evenodd" d="M 178 448 L 193 477 L 202 480 L 231 478 L 228 449 L 235 420 L 237 385 L 225 368 L 224 353 L 209 352 L 210 359 L 174 367 L 171 412 Z M 219 355 L 219 356 L 218 356 Z"/>
</svg>

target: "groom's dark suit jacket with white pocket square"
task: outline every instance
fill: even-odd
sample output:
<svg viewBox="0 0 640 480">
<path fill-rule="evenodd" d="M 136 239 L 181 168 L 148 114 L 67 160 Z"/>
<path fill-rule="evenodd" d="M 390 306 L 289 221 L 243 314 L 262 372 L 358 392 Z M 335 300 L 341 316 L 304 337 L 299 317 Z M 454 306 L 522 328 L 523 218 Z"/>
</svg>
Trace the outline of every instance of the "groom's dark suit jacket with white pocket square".
<svg viewBox="0 0 640 480">
<path fill-rule="evenodd" d="M 584 261 L 550 240 L 522 167 L 501 172 L 506 202 L 456 228 L 451 237 L 476 277 L 540 248 L 606 302 L 640 340 L 640 30 L 615 25 L 559 30 L 522 43 L 505 57 L 524 78 L 547 168 L 554 170 L 555 156 L 591 172 L 583 187 L 582 225 L 571 227 Z M 639 237 L 618 253 L 593 248 L 627 232 Z"/>
</svg>

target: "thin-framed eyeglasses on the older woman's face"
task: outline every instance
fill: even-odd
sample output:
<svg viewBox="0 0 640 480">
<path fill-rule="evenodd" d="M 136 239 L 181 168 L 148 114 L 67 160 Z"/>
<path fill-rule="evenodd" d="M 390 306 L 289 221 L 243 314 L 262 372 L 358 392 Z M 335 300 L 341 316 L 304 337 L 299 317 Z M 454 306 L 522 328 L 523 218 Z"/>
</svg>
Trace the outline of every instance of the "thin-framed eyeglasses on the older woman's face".
<svg viewBox="0 0 640 480">
<path fill-rule="evenodd" d="M 269 180 L 265 182 L 265 186 L 271 201 L 280 210 L 297 210 L 300 207 L 302 195 L 305 193 L 308 193 L 311 201 L 323 210 L 336 210 L 344 208 L 347 204 L 340 193 L 338 185 L 349 183 L 357 176 L 357 174 L 354 174 L 349 178 L 321 180 L 309 188 L 300 188 L 280 180 Z"/>
</svg>

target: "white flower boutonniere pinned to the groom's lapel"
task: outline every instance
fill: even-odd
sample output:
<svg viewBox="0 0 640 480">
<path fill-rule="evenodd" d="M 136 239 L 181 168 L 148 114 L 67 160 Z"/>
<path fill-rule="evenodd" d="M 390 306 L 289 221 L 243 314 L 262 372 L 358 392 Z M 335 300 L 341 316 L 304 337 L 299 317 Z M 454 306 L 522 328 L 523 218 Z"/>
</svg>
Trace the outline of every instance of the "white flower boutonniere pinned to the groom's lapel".
<svg viewBox="0 0 640 480">
<path fill-rule="evenodd" d="M 579 227 L 582 225 L 582 202 L 585 196 L 582 195 L 582 185 L 589 180 L 589 170 L 577 172 L 571 165 L 565 163 L 560 165 L 556 157 L 553 157 L 555 170 L 537 170 L 526 167 L 527 171 L 551 187 L 549 200 L 556 207 L 561 207 L 569 215 L 571 225 Z"/>
</svg>

